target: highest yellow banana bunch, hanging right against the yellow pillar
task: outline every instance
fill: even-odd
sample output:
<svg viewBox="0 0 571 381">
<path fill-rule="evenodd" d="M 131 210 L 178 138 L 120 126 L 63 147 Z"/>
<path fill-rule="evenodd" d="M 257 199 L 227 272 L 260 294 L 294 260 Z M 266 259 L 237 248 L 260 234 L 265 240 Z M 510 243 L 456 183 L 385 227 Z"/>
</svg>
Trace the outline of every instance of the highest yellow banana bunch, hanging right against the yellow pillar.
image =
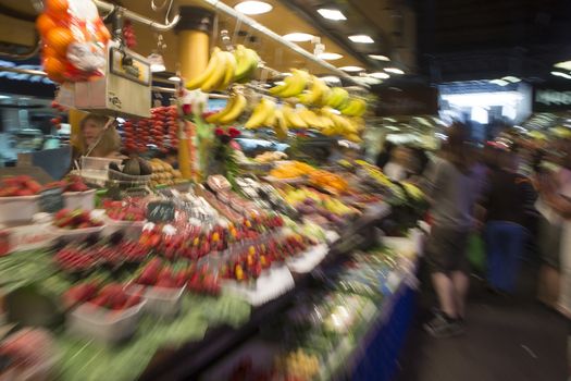
<svg viewBox="0 0 571 381">
<path fill-rule="evenodd" d="M 186 83 L 186 88 L 194 90 L 200 88 L 204 93 L 224 90 L 233 82 L 246 82 L 253 74 L 260 58 L 256 51 L 241 45 L 234 52 L 214 48 L 207 69 Z"/>
</svg>

